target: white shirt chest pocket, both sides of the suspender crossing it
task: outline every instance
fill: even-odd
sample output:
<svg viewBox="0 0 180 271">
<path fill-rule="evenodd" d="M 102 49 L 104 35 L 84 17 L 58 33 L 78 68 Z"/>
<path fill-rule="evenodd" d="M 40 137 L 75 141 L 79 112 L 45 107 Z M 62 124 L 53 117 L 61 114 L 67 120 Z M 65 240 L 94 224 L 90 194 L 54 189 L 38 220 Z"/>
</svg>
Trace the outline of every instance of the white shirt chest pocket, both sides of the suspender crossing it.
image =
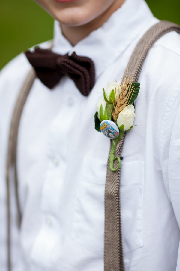
<svg viewBox="0 0 180 271">
<path fill-rule="evenodd" d="M 143 245 L 143 163 L 122 163 L 122 167 L 120 193 L 123 249 L 126 253 Z M 84 248 L 101 255 L 104 254 L 106 171 L 106 163 L 84 160 L 76 193 L 72 226 L 72 238 Z"/>
</svg>

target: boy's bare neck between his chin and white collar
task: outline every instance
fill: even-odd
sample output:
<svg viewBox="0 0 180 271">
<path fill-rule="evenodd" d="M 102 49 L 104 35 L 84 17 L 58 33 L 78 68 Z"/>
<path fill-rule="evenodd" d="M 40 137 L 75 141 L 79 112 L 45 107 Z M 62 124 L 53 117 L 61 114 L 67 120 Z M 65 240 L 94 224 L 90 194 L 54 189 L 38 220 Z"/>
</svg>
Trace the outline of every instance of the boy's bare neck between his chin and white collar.
<svg viewBox="0 0 180 271">
<path fill-rule="evenodd" d="M 88 36 L 92 31 L 98 29 L 103 23 L 107 21 L 107 19 L 111 16 L 111 14 L 116 11 L 118 8 L 122 6 L 125 0 L 119 1 L 118 5 L 112 5 L 107 11 L 101 14 L 99 17 L 94 20 L 86 23 L 85 25 L 80 26 L 67 26 L 60 23 L 60 27 L 65 38 L 74 46 L 80 40 L 84 39 Z"/>
</svg>

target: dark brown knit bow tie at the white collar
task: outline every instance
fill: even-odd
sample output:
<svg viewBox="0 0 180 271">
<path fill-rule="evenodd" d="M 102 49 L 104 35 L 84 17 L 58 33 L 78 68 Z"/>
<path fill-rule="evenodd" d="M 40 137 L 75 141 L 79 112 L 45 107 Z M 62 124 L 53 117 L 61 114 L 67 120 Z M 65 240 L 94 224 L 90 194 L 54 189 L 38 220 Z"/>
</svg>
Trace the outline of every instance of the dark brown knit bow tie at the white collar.
<svg viewBox="0 0 180 271">
<path fill-rule="evenodd" d="M 90 58 L 72 55 L 58 55 L 50 50 L 36 48 L 35 52 L 26 51 L 26 57 L 34 67 L 36 75 L 49 89 L 68 75 L 80 92 L 87 96 L 95 84 L 95 67 Z"/>
</svg>

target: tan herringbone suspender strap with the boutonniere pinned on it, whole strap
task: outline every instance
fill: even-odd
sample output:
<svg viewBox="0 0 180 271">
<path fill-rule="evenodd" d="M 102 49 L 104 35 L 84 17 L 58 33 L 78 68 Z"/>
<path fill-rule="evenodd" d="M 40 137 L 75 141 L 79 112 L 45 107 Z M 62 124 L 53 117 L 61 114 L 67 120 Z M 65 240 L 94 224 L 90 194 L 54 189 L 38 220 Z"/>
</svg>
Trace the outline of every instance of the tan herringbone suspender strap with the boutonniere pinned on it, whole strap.
<svg viewBox="0 0 180 271">
<path fill-rule="evenodd" d="M 164 34 L 176 31 L 180 33 L 180 26 L 167 21 L 160 21 L 152 26 L 138 42 L 128 66 L 124 78 L 128 74 L 133 76 L 133 81 L 138 82 L 144 61 L 153 44 Z M 116 146 L 116 156 L 121 156 L 125 136 L 119 140 Z M 111 140 L 112 141 L 112 140 Z M 112 147 L 112 142 L 111 142 Z M 110 148 L 111 151 L 111 148 Z M 116 161 L 115 161 L 116 162 Z M 110 153 L 107 164 L 107 177 L 105 187 L 105 231 L 104 231 L 104 271 L 124 271 L 121 203 L 120 203 L 120 171 L 110 170 Z M 117 167 L 117 164 L 115 164 Z"/>
</svg>

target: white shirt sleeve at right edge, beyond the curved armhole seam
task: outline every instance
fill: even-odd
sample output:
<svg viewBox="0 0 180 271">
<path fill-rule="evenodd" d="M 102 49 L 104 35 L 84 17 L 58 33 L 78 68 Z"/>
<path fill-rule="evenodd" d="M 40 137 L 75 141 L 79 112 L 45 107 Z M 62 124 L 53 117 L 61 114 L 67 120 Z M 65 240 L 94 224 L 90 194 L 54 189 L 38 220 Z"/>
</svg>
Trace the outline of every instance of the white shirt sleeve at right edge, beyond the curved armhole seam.
<svg viewBox="0 0 180 271">
<path fill-rule="evenodd" d="M 180 228 L 180 82 L 177 89 L 174 90 L 172 103 L 173 106 L 167 116 L 167 121 L 164 122 L 161 166 L 167 195 L 172 203 L 177 224 Z M 176 271 L 179 270 L 180 247 Z"/>
</svg>

